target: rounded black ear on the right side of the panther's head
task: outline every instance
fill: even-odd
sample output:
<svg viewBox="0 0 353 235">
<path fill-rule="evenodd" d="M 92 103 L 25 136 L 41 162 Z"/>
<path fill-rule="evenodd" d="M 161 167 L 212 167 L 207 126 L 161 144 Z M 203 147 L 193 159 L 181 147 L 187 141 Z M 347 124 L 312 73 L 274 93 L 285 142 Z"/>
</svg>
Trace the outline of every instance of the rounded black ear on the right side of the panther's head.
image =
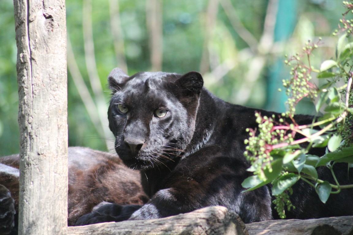
<svg viewBox="0 0 353 235">
<path fill-rule="evenodd" d="M 183 89 L 185 95 L 199 95 L 203 87 L 202 75 L 192 71 L 181 76 L 176 84 Z"/>
</svg>

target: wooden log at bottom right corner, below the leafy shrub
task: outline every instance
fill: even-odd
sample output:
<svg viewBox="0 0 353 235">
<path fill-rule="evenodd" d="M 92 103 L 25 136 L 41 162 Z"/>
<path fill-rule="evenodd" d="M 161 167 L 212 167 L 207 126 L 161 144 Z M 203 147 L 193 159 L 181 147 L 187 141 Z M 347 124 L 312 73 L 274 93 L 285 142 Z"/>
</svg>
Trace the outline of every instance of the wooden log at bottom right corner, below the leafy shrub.
<svg viewBox="0 0 353 235">
<path fill-rule="evenodd" d="M 353 216 L 282 219 L 246 224 L 250 235 L 352 235 Z"/>
</svg>

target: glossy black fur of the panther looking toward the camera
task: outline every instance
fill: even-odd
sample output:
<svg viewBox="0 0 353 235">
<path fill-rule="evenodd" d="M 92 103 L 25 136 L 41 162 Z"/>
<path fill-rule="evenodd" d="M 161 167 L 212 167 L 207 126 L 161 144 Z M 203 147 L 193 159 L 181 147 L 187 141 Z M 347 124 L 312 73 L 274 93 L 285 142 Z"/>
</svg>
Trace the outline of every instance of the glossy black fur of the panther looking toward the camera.
<svg viewBox="0 0 353 235">
<path fill-rule="evenodd" d="M 146 85 L 147 84 L 147 85 Z M 241 183 L 251 175 L 246 169 L 246 128 L 256 128 L 255 111 L 278 113 L 227 103 L 203 88 L 197 72 L 138 73 L 131 77 L 114 69 L 109 75 L 113 91 L 108 110 L 109 127 L 116 137 L 115 150 L 130 168 L 141 172 L 148 203 L 134 211 L 130 220 L 161 218 L 212 205 L 237 212 L 245 223 L 277 218 L 272 215 L 270 186 L 241 193 Z M 124 105 L 127 112 L 120 112 Z M 156 110 L 167 110 L 158 118 Z M 299 124 L 311 123 L 310 116 L 296 116 Z M 313 150 L 322 154 L 322 149 Z M 352 184 L 352 171 L 338 166 L 340 179 Z M 319 169 L 329 178 L 327 169 Z M 352 190 L 342 190 L 323 204 L 315 190 L 303 182 L 294 187 L 296 210 L 289 218 L 318 218 L 353 215 Z M 115 209 L 114 209 L 115 208 Z M 120 207 L 105 205 L 77 225 L 121 221 Z M 125 212 L 124 212 L 125 213 Z M 109 218 L 107 218 L 109 217 Z"/>
</svg>

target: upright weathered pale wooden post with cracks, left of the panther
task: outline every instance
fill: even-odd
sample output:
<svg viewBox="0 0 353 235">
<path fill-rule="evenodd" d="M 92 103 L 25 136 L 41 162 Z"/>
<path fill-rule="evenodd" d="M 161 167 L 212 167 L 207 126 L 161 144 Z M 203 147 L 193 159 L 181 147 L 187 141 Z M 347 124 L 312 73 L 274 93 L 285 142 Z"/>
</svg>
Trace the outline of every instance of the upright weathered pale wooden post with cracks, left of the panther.
<svg viewBox="0 0 353 235">
<path fill-rule="evenodd" d="M 19 234 L 67 234 L 64 0 L 14 0 L 20 126 Z"/>
</svg>

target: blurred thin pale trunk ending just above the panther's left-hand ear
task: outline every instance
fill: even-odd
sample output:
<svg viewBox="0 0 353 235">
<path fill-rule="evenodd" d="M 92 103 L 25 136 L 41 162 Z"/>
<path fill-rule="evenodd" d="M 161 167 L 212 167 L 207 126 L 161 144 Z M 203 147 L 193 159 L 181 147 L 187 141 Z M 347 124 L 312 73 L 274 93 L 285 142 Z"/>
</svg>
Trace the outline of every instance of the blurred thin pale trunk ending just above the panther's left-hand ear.
<svg viewBox="0 0 353 235">
<path fill-rule="evenodd" d="M 109 0 L 110 30 L 112 31 L 115 57 L 118 60 L 118 67 L 127 74 L 125 58 L 124 35 L 121 29 L 119 0 Z"/>
</svg>

